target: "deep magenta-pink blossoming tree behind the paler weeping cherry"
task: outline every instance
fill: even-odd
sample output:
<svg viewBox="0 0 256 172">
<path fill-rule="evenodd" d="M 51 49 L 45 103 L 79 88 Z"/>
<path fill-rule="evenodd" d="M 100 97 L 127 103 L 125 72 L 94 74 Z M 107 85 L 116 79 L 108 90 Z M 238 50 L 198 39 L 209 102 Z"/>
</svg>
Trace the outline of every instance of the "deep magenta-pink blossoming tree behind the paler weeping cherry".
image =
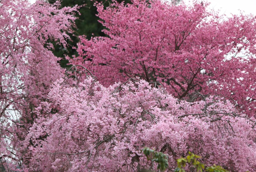
<svg viewBox="0 0 256 172">
<path fill-rule="evenodd" d="M 109 37 L 81 38 L 79 58 L 105 86 L 139 76 L 160 81 L 175 97 L 200 91 L 232 97 L 254 116 L 256 18 L 225 18 L 207 3 L 168 5 L 160 0 L 98 4 Z"/>
</svg>

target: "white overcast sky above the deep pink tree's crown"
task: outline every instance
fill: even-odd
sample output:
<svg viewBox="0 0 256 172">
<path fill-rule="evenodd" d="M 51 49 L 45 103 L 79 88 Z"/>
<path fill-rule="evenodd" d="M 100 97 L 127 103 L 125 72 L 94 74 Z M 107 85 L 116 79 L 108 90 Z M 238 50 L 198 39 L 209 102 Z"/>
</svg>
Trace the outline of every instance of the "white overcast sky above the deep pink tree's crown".
<svg viewBox="0 0 256 172">
<path fill-rule="evenodd" d="M 35 2 L 36 0 L 29 0 Z M 183 0 L 189 3 L 190 0 Z M 210 8 L 220 10 L 221 14 L 230 16 L 230 13 L 237 14 L 239 9 L 244 11 L 245 14 L 256 15 L 256 0 L 208 0 L 211 3 Z"/>
</svg>

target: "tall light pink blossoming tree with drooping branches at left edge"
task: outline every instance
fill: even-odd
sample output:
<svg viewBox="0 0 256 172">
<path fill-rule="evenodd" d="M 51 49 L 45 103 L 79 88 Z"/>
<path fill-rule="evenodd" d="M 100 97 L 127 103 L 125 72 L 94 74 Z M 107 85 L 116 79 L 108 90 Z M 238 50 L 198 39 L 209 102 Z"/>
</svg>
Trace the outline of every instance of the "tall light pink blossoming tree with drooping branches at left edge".
<svg viewBox="0 0 256 172">
<path fill-rule="evenodd" d="M 11 170 L 8 162 L 23 158 L 19 147 L 37 117 L 34 108 L 63 77 L 49 41 L 66 46 L 77 7 L 27 0 L 2 0 L 0 7 L 0 166 Z"/>
</svg>

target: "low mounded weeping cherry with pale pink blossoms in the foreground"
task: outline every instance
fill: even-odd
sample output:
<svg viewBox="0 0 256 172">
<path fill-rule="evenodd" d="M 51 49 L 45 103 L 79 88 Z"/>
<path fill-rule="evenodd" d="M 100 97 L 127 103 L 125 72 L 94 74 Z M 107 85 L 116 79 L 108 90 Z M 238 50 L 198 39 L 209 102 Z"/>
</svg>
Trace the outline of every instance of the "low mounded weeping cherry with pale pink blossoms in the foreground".
<svg viewBox="0 0 256 172">
<path fill-rule="evenodd" d="M 138 78 L 107 88 L 90 77 L 78 86 L 62 82 L 37 108 L 42 117 L 26 138 L 30 171 L 148 169 L 145 146 L 169 156 L 169 171 L 188 150 L 207 165 L 256 169 L 254 123 L 222 97 L 189 103 Z"/>
</svg>

